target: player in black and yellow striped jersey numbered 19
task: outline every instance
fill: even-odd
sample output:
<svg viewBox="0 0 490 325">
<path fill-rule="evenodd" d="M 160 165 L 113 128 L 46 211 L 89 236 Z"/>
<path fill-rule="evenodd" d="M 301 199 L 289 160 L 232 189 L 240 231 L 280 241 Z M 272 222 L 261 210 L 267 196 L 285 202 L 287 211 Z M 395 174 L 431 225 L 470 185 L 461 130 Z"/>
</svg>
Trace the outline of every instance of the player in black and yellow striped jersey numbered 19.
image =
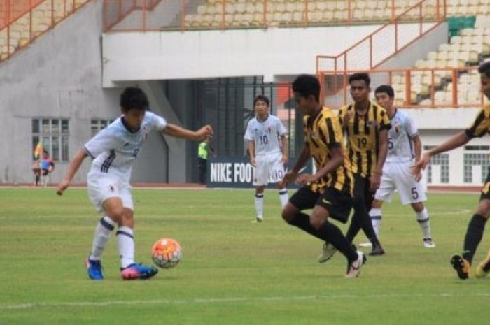
<svg viewBox="0 0 490 325">
<path fill-rule="evenodd" d="M 351 75 L 349 85 L 354 103 L 339 110 L 354 176 L 354 215 L 346 238 L 352 241 L 362 228 L 372 243 L 370 255 L 381 255 L 384 250 L 372 227 L 369 210 L 381 182 L 391 124 L 386 110 L 369 99 L 370 81 L 367 73 Z"/>
</svg>

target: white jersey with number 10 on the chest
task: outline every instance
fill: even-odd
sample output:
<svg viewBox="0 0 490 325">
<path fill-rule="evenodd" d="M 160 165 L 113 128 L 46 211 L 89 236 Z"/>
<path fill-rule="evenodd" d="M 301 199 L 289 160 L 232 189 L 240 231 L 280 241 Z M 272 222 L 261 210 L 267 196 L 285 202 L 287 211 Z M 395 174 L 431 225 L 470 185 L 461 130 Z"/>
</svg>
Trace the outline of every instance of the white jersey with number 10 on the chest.
<svg viewBox="0 0 490 325">
<path fill-rule="evenodd" d="M 281 120 L 269 114 L 263 122 L 258 121 L 257 117 L 248 121 L 244 138 L 255 142 L 255 156 L 258 156 L 281 152 L 279 137 L 287 133 Z"/>
</svg>

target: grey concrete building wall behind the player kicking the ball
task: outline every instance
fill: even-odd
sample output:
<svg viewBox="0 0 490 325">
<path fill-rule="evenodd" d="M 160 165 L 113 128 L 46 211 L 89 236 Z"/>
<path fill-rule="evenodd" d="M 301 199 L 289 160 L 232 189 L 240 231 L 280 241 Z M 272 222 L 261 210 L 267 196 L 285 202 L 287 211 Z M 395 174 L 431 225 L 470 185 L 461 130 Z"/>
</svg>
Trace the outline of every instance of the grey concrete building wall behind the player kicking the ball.
<svg viewBox="0 0 490 325">
<path fill-rule="evenodd" d="M 128 80 L 119 87 L 102 88 L 102 4 L 94 0 L 55 29 L 38 38 L 25 50 L 0 66 L 0 183 L 33 182 L 32 119 L 69 119 L 69 157 L 91 136 L 90 120 L 115 119 L 120 115 L 119 95 L 123 87 L 137 85 Z M 145 87 L 144 82 L 140 82 Z M 151 104 L 169 118 L 172 108 L 162 108 L 161 98 Z M 176 120 L 170 118 L 169 120 Z M 179 121 L 175 121 L 179 122 Z M 155 134 L 141 150 L 132 180 L 167 181 L 168 161 L 182 166 L 185 147 L 175 145 L 169 160 L 167 143 Z M 52 182 L 62 179 L 68 161 L 56 164 Z M 184 164 L 185 166 L 185 164 Z M 85 159 L 74 182 L 85 182 L 90 159 Z M 186 181 L 186 169 L 175 168 L 171 180 Z"/>
</svg>

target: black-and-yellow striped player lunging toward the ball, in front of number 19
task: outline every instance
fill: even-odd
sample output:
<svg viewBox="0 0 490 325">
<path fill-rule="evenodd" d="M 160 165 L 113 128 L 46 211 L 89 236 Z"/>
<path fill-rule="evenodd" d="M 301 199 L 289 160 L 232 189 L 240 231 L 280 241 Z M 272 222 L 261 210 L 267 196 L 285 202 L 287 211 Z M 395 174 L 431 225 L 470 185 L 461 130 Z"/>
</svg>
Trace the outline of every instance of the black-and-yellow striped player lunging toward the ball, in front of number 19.
<svg viewBox="0 0 490 325">
<path fill-rule="evenodd" d="M 322 108 L 320 83 L 313 75 L 300 75 L 293 82 L 298 108 L 304 115 L 304 147 L 293 170 L 283 178 L 284 185 L 296 180 L 302 187 L 283 208 L 282 217 L 316 238 L 333 245 L 348 261 L 346 277 L 357 277 L 365 263 L 362 252 L 356 252 L 329 217 L 347 222 L 352 207 L 353 180 L 349 160 L 344 157 L 342 127 L 329 108 Z M 298 175 L 311 157 L 316 173 Z M 302 212 L 313 208 L 311 215 Z"/>
</svg>

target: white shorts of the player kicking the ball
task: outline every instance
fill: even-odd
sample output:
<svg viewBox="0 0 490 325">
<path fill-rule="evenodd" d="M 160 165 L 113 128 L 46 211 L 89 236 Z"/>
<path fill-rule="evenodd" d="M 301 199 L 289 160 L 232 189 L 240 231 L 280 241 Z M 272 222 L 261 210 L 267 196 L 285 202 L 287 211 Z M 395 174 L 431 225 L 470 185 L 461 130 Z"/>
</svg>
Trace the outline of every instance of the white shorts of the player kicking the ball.
<svg viewBox="0 0 490 325">
<path fill-rule="evenodd" d="M 89 173 L 87 176 L 88 196 L 98 212 L 104 211 L 102 204 L 108 198 L 118 197 L 123 207 L 134 210 L 131 187 L 120 181 L 115 175 Z"/>
</svg>

